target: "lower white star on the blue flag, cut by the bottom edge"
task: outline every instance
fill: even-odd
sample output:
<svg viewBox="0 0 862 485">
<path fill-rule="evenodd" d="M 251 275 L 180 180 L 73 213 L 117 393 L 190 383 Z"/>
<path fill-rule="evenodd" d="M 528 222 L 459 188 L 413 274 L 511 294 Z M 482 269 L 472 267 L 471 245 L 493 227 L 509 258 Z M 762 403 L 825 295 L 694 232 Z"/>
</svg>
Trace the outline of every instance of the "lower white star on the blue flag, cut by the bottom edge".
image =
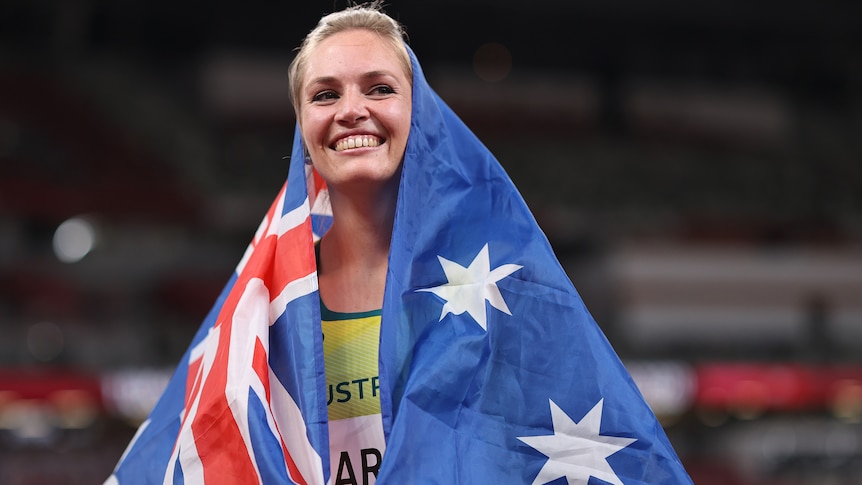
<svg viewBox="0 0 862 485">
<path fill-rule="evenodd" d="M 623 485 L 607 458 L 637 440 L 599 434 L 604 399 L 599 400 L 580 423 L 572 421 L 554 401 L 548 401 L 551 403 L 554 434 L 518 437 L 548 457 L 547 463 L 533 480 L 533 485 L 548 483 L 560 477 L 566 477 L 569 485 L 586 485 L 591 476 L 614 485 Z"/>
</svg>

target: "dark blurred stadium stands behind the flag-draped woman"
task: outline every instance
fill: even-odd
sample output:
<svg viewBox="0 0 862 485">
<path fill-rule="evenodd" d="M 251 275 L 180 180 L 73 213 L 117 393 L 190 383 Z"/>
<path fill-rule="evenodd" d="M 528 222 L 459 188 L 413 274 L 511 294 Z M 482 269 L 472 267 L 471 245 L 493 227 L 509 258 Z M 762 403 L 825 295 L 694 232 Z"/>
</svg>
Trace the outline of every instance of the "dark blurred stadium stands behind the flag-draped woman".
<svg viewBox="0 0 862 485">
<path fill-rule="evenodd" d="M 2 0 L 0 483 L 101 483 L 343 1 Z M 862 3 L 390 1 L 698 484 L 862 483 Z"/>
</svg>

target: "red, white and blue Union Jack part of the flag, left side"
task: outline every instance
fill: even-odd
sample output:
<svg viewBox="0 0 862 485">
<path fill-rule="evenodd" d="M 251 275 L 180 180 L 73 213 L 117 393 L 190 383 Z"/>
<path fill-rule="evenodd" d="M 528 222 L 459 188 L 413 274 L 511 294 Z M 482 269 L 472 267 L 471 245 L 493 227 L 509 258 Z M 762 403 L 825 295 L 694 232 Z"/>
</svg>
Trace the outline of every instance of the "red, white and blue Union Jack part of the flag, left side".
<svg viewBox="0 0 862 485">
<path fill-rule="evenodd" d="M 312 227 L 331 217 L 306 171 L 282 187 L 106 483 L 325 483 L 321 333 L 308 322 L 320 321 Z"/>
</svg>

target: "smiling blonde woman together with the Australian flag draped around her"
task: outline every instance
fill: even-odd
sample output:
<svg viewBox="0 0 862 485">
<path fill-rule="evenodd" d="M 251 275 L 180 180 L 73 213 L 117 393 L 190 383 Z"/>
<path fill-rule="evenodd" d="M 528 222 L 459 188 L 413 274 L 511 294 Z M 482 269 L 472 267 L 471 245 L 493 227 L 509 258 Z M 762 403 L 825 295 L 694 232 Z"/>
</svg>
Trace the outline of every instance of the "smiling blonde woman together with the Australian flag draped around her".
<svg viewBox="0 0 862 485">
<path fill-rule="evenodd" d="M 691 483 L 398 24 L 324 17 L 290 81 L 286 188 L 109 482 Z"/>
</svg>

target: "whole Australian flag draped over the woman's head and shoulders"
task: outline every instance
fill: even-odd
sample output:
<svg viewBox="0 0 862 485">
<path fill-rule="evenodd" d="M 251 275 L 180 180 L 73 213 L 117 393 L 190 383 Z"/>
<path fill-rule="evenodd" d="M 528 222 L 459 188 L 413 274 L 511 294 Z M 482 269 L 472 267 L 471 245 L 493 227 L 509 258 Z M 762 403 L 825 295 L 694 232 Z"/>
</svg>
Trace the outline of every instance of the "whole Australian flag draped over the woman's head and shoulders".
<svg viewBox="0 0 862 485">
<path fill-rule="evenodd" d="M 514 185 L 410 55 L 378 483 L 691 483 Z M 300 138 L 285 188 L 109 482 L 356 483 L 326 465 L 312 241 L 331 216 Z"/>
</svg>

